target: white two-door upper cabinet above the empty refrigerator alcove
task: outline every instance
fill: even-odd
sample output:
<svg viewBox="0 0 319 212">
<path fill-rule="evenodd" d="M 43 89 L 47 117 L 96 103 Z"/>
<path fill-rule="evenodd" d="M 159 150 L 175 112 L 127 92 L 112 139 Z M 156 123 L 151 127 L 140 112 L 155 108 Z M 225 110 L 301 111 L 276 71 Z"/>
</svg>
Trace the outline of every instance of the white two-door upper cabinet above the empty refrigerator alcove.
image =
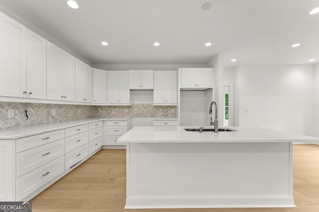
<svg viewBox="0 0 319 212">
<path fill-rule="evenodd" d="M 212 68 L 181 69 L 181 88 L 208 89 L 212 87 Z"/>
</svg>

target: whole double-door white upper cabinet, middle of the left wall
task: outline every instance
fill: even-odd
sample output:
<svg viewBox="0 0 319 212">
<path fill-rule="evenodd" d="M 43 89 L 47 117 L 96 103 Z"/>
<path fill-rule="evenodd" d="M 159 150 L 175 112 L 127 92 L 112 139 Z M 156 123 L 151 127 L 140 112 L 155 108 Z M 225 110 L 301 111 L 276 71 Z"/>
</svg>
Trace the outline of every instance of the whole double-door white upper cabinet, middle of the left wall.
<svg viewBox="0 0 319 212">
<path fill-rule="evenodd" d="M 75 58 L 47 41 L 47 99 L 74 101 Z"/>
</svg>

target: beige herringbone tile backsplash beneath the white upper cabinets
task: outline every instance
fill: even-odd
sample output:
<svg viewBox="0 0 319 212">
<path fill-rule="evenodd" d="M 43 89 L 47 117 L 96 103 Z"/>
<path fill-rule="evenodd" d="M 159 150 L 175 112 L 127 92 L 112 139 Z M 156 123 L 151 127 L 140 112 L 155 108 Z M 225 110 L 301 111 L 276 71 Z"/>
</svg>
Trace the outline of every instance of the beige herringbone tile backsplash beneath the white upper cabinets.
<svg viewBox="0 0 319 212">
<path fill-rule="evenodd" d="M 25 116 L 27 109 L 28 119 Z M 8 118 L 8 109 L 14 109 L 14 118 Z M 51 110 L 55 109 L 55 115 Z M 126 112 L 125 109 L 128 109 Z M 174 109 L 174 112 L 171 112 Z M 0 102 L 0 130 L 35 125 L 67 122 L 89 118 L 175 118 L 176 106 L 87 106 Z"/>
</svg>

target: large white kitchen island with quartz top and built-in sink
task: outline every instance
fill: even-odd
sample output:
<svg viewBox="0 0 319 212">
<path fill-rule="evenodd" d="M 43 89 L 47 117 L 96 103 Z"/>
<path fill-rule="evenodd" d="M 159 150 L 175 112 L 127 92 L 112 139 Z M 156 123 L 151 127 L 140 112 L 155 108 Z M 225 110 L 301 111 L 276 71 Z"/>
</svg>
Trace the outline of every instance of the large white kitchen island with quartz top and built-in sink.
<svg viewBox="0 0 319 212">
<path fill-rule="evenodd" d="M 134 127 L 126 209 L 295 207 L 292 143 L 318 138 L 264 129 L 189 132 Z"/>
</svg>

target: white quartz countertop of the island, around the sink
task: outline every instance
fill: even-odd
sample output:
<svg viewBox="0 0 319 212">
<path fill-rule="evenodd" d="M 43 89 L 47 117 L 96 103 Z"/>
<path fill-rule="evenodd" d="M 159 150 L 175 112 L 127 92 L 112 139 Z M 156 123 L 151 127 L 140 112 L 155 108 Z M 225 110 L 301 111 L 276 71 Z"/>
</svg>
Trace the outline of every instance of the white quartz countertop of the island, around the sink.
<svg viewBox="0 0 319 212">
<path fill-rule="evenodd" d="M 184 128 L 195 127 L 134 127 L 118 139 L 118 142 L 318 142 L 319 138 L 287 132 L 229 127 L 235 132 L 190 132 Z"/>
</svg>

